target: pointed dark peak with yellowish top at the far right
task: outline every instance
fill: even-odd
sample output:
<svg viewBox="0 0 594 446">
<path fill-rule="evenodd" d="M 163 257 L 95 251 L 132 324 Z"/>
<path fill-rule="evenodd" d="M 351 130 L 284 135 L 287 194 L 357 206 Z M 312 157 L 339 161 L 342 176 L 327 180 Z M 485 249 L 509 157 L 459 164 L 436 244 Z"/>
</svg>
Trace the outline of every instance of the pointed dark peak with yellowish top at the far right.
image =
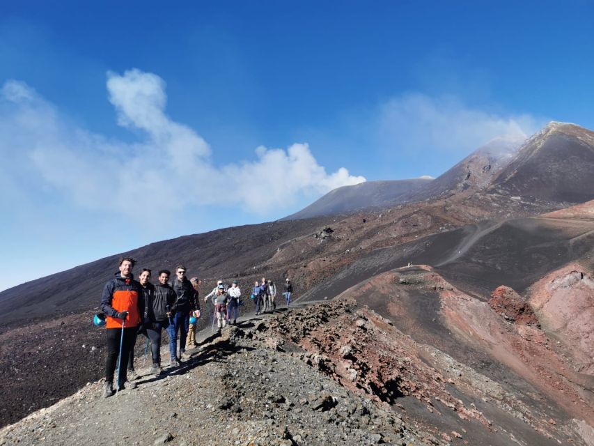
<svg viewBox="0 0 594 446">
<path fill-rule="evenodd" d="M 594 132 L 575 124 L 549 123 L 526 141 L 490 190 L 569 203 L 594 199 Z"/>
</svg>

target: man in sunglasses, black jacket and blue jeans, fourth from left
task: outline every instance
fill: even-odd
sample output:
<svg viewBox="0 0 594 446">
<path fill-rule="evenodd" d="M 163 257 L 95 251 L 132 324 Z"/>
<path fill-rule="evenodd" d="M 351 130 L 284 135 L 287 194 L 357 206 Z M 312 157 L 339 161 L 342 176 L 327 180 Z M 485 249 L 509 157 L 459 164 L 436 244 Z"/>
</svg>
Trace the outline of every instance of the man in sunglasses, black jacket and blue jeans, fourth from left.
<svg viewBox="0 0 594 446">
<path fill-rule="evenodd" d="M 167 328 L 169 337 L 178 339 L 178 332 L 180 333 L 180 359 L 187 360 L 189 355 L 186 353 L 186 339 L 189 330 L 189 318 L 195 311 L 200 311 L 198 304 L 198 293 L 194 286 L 186 277 L 186 267 L 178 265 L 175 268 L 175 278 L 171 284 L 171 288 L 175 291 L 177 298 L 169 312 L 169 317 L 172 318 L 172 325 Z M 171 357 L 171 365 L 178 364 L 177 355 Z"/>
</svg>

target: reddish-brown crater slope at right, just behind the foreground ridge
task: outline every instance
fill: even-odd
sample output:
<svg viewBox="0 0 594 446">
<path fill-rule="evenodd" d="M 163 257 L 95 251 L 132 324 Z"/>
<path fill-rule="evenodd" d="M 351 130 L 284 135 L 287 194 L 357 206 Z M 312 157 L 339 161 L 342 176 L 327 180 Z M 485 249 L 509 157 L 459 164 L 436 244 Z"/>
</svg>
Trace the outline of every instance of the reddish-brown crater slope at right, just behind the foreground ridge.
<svg viewBox="0 0 594 446">
<path fill-rule="evenodd" d="M 508 408 L 519 424 L 526 422 L 545 436 L 549 420 L 561 431 L 572 429 L 576 422 L 584 422 L 590 429 L 594 426 L 592 376 L 574 371 L 572 357 L 566 356 L 547 332 L 506 321 L 487 302 L 456 289 L 432 268 L 386 272 L 341 295 L 347 296 L 389 318 L 416 341 L 467 364 L 471 376 L 483 374 L 497 383 L 505 397 L 495 392 L 496 398 L 491 395 L 487 399 L 499 408 Z M 588 337 L 587 330 L 581 334 Z M 464 374 L 461 376 L 465 380 Z M 474 395 L 471 401 L 476 404 L 480 385 L 466 385 L 466 397 Z M 464 397 L 460 399 L 464 401 Z M 487 408 L 481 410 L 491 420 Z"/>
</svg>

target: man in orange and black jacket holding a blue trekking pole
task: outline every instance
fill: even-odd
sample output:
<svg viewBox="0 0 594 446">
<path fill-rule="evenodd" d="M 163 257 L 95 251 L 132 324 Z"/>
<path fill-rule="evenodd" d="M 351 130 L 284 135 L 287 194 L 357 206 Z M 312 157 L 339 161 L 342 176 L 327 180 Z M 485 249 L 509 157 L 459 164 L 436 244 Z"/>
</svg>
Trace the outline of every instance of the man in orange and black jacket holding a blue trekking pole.
<svg viewBox="0 0 594 446">
<path fill-rule="evenodd" d="M 107 316 L 105 325 L 107 328 L 105 330 L 107 333 L 107 357 L 103 397 L 110 397 L 114 394 L 114 372 L 118 355 L 120 357 L 118 390 L 136 387 L 136 384 L 128 382 L 126 376 L 130 346 L 141 322 L 141 315 L 144 314 L 141 285 L 132 276 L 134 263 L 136 261 L 131 257 L 120 259 L 119 272 L 116 272 L 115 277 L 109 279 L 105 284 L 101 295 L 101 310 Z"/>
</svg>

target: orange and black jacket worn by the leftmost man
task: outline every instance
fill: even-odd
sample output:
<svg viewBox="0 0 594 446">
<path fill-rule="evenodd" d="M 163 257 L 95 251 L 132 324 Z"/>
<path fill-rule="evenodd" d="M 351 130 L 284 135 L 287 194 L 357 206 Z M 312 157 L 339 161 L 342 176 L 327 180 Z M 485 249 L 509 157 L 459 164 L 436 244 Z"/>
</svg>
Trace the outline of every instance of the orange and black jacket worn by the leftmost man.
<svg viewBox="0 0 594 446">
<path fill-rule="evenodd" d="M 103 287 L 101 310 L 107 316 L 106 328 L 122 328 L 122 320 L 116 318 L 120 312 L 128 312 L 124 328 L 137 327 L 144 314 L 142 286 L 134 277 L 122 277 L 119 272 Z"/>
</svg>

